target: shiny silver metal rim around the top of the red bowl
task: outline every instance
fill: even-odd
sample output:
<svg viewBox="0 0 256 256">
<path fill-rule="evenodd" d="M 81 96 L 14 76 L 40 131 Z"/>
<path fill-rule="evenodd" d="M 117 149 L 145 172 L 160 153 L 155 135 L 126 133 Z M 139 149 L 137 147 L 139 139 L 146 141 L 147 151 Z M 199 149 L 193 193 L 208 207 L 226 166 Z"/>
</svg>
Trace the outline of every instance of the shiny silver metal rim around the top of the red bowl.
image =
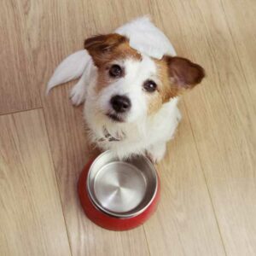
<svg viewBox="0 0 256 256">
<path fill-rule="evenodd" d="M 98 156 L 96 156 L 95 160 L 93 160 L 93 162 L 91 163 L 91 165 L 89 167 L 89 171 L 88 171 L 86 181 L 85 181 L 85 188 L 86 188 L 86 191 L 89 195 L 89 199 L 92 202 L 94 207 L 96 207 L 99 211 L 108 214 L 110 217 L 113 217 L 113 218 L 132 218 L 132 217 L 136 217 L 137 215 L 143 213 L 154 201 L 154 198 L 155 198 L 155 196 L 157 194 L 157 191 L 159 189 L 159 181 L 158 181 L 157 171 L 156 171 L 153 163 L 150 160 L 148 160 L 148 158 L 146 156 L 144 156 L 143 154 L 136 155 L 137 157 L 143 158 L 143 160 L 145 160 L 148 163 L 148 165 L 151 167 L 152 171 L 154 172 L 154 179 L 155 179 L 154 194 L 152 195 L 152 197 L 148 201 L 148 203 L 143 208 L 139 209 L 137 212 L 131 212 L 131 213 L 110 212 L 110 211 L 108 211 L 108 209 L 102 207 L 102 205 L 99 204 L 98 201 L 96 201 L 96 199 L 92 195 L 92 192 L 90 191 L 90 178 L 89 178 L 90 173 L 92 172 L 93 166 L 96 164 L 96 161 L 99 160 L 100 158 L 102 158 L 103 155 L 105 155 L 105 154 L 113 154 L 113 153 L 112 153 L 111 150 L 104 151 L 102 154 L 99 154 Z M 125 162 L 125 160 L 119 160 L 119 161 Z"/>
</svg>

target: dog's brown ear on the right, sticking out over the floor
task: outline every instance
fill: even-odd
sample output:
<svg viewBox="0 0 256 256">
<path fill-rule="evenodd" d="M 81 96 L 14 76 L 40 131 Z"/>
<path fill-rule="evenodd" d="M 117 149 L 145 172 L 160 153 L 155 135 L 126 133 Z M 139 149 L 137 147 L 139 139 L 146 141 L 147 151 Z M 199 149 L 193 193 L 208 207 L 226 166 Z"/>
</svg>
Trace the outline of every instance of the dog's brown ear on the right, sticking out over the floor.
<svg viewBox="0 0 256 256">
<path fill-rule="evenodd" d="M 204 69 L 182 57 L 165 56 L 169 76 L 179 88 L 190 89 L 201 83 L 205 77 Z"/>
</svg>

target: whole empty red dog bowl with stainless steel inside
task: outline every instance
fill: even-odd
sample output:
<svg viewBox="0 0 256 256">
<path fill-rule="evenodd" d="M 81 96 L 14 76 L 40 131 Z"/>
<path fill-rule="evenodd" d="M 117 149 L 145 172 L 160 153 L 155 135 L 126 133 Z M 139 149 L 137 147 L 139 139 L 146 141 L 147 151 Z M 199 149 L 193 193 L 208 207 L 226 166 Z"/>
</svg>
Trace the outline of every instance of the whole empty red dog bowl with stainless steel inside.
<svg viewBox="0 0 256 256">
<path fill-rule="evenodd" d="M 84 166 L 78 189 L 87 217 L 108 230 L 143 224 L 160 197 L 159 177 L 146 157 L 121 161 L 111 151 Z"/>
</svg>

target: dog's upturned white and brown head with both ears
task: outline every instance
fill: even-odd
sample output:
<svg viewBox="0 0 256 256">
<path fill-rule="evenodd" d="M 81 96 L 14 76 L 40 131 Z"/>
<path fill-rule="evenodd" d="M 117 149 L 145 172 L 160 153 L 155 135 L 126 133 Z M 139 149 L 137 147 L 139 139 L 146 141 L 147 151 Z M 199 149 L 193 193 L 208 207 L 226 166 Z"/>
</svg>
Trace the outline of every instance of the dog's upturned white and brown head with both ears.
<svg viewBox="0 0 256 256">
<path fill-rule="evenodd" d="M 135 122 L 156 113 L 204 78 L 199 65 L 181 57 L 156 60 L 140 54 L 119 34 L 86 39 L 84 48 L 98 68 L 96 108 L 115 122 Z"/>
</svg>

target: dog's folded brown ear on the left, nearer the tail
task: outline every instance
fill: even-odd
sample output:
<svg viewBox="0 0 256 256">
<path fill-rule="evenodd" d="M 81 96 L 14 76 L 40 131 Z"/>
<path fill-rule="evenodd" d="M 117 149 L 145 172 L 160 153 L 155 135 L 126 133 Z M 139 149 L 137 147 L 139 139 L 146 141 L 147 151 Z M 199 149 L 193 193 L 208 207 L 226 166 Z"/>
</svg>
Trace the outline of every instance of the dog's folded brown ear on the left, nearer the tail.
<svg viewBox="0 0 256 256">
<path fill-rule="evenodd" d="M 104 58 L 108 58 L 113 49 L 119 44 L 125 43 L 125 41 L 127 41 L 127 38 L 117 33 L 98 35 L 86 39 L 84 48 L 88 50 L 96 66 L 99 66 L 104 61 Z"/>
</svg>

